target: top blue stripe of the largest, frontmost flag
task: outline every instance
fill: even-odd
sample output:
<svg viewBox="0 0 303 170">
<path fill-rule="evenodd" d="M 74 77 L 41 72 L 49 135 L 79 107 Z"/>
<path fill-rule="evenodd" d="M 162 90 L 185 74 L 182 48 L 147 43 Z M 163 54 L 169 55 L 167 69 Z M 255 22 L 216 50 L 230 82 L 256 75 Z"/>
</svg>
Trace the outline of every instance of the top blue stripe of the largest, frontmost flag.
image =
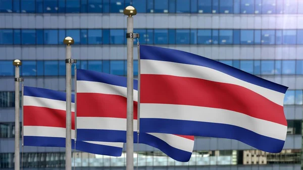
<svg viewBox="0 0 303 170">
<path fill-rule="evenodd" d="M 264 88 L 272 89 L 281 93 L 285 93 L 288 88 L 283 85 L 262 79 L 255 75 L 246 73 L 234 67 L 225 65 L 223 63 L 205 58 L 204 56 L 200 56 L 176 49 L 141 45 L 140 59 L 166 61 L 166 62 L 208 67 L 220 71 L 222 73 L 228 74 L 237 79 L 246 81 L 248 83 L 255 84 Z"/>
</svg>

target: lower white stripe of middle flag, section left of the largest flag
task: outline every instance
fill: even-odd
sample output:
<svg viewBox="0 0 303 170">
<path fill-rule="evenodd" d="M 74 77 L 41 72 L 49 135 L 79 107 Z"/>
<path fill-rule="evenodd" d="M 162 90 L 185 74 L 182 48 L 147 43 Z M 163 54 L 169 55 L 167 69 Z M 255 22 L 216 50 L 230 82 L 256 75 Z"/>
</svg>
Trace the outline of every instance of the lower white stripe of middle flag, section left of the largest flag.
<svg viewBox="0 0 303 170">
<path fill-rule="evenodd" d="M 137 131 L 137 120 L 134 120 L 134 131 Z M 126 119 L 77 117 L 77 129 L 103 129 L 126 131 Z"/>
</svg>

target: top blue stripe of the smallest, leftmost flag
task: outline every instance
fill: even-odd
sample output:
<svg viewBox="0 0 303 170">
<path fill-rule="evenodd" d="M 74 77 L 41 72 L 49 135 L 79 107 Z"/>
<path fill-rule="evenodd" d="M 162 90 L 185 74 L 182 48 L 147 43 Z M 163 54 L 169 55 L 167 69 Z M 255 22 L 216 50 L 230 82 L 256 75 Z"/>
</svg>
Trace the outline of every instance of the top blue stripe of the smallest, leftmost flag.
<svg viewBox="0 0 303 170">
<path fill-rule="evenodd" d="M 24 86 L 24 96 L 41 97 L 41 98 L 66 101 L 65 92 L 38 88 L 38 87 Z M 72 102 L 75 102 L 74 94 L 72 94 Z"/>
</svg>

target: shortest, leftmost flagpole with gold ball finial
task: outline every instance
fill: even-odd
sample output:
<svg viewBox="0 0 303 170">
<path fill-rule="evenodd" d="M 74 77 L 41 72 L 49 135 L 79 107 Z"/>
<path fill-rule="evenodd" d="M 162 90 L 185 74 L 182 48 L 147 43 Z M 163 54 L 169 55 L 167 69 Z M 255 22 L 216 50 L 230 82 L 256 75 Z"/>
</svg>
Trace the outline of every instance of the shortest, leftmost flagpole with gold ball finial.
<svg viewBox="0 0 303 170">
<path fill-rule="evenodd" d="M 14 60 L 15 67 L 15 170 L 20 169 L 20 60 Z"/>
</svg>

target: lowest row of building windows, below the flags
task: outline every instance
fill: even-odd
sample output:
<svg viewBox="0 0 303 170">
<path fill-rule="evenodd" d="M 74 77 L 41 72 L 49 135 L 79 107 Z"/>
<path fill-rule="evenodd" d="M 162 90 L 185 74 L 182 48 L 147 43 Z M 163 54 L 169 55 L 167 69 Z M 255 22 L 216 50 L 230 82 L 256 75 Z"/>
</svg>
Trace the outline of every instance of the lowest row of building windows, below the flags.
<svg viewBox="0 0 303 170">
<path fill-rule="evenodd" d="M 179 162 L 162 152 L 134 153 L 134 166 L 138 156 L 138 166 L 201 166 L 201 165 L 237 165 L 237 164 L 286 164 L 300 163 L 300 149 L 285 149 L 281 153 L 268 153 L 260 150 L 211 150 L 194 151 L 188 162 Z M 72 153 L 72 165 L 76 167 L 123 167 L 126 166 L 126 153 L 119 157 Z M 75 161 L 74 161 L 75 157 Z M 64 152 L 23 153 L 23 167 L 64 167 Z M 14 153 L 0 153 L 1 168 L 14 167 Z M 20 163 L 21 165 L 21 163 Z"/>
</svg>

